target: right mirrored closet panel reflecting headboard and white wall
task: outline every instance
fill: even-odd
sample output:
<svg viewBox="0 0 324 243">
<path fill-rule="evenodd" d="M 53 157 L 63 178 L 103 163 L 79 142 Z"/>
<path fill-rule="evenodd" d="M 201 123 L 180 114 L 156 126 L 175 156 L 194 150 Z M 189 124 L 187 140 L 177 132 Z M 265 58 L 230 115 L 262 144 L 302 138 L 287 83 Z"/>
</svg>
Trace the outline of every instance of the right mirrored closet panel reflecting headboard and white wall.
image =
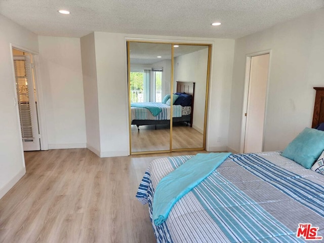
<svg viewBox="0 0 324 243">
<path fill-rule="evenodd" d="M 205 104 L 209 46 L 175 45 L 174 91 L 180 95 L 175 104 L 181 105 L 181 114 L 190 114 L 190 122 L 173 123 L 172 149 L 203 148 L 205 132 Z M 191 95 L 192 103 L 182 102 Z"/>
</svg>

